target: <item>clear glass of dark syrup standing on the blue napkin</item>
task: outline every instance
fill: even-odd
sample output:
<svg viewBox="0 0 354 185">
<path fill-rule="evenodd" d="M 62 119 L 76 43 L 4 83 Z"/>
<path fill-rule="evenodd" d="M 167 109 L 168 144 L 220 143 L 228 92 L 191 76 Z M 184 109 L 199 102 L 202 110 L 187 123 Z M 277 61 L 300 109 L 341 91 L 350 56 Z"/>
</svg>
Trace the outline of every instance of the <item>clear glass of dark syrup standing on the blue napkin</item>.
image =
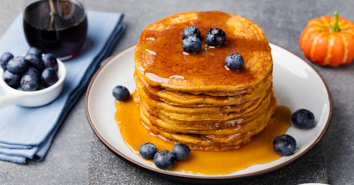
<svg viewBox="0 0 354 185">
<path fill-rule="evenodd" d="M 58 58 L 78 54 L 87 33 L 84 7 L 67 0 L 52 0 L 56 13 L 50 16 L 48 0 L 29 4 L 24 11 L 23 29 L 27 42 Z"/>
</svg>

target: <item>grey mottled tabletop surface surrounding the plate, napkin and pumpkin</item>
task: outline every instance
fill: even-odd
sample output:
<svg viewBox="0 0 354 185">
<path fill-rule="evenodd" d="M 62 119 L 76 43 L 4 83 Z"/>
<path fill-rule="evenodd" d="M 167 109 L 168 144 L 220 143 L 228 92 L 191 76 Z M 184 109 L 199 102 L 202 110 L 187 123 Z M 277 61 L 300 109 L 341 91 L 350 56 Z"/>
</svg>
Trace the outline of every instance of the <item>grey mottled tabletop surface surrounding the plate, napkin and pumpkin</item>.
<svg viewBox="0 0 354 185">
<path fill-rule="evenodd" d="M 20 12 L 19 2 L 21 0 L 0 1 L 0 36 L 5 33 Z M 88 10 L 125 14 L 124 23 L 128 27 L 112 54 L 136 44 L 139 34 L 147 24 L 183 11 L 216 10 L 239 14 L 258 24 L 264 30 L 269 42 L 284 47 L 301 58 L 304 56 L 298 46 L 298 39 L 310 19 L 322 15 L 333 15 L 333 11 L 338 11 L 340 16 L 354 21 L 353 0 L 86 0 L 86 7 Z M 316 150 L 320 150 L 318 153 L 321 155 L 308 155 L 309 158 L 304 158 L 304 160 L 320 164 L 321 158 L 324 157 L 328 184 L 354 184 L 354 62 L 338 68 L 323 68 L 313 63 L 311 65 L 318 70 L 329 86 L 333 99 L 333 118 L 329 130 L 321 142 L 323 152 L 321 146 L 316 148 Z M 107 158 L 109 163 L 104 165 L 112 168 L 117 159 L 102 148 L 102 144 L 93 136 L 86 119 L 84 104 L 83 94 L 59 128 L 44 161 L 28 161 L 25 165 L 0 161 L 0 184 L 98 184 L 100 179 L 97 174 L 103 174 L 101 180 L 105 179 L 105 176 L 111 177 L 110 183 L 112 184 L 134 184 L 134 182 L 138 182 L 134 179 L 150 177 L 146 173 L 141 174 L 139 170 L 133 170 L 134 173 L 131 174 L 120 173 L 125 169 L 130 169 L 129 167 L 116 168 L 118 174 L 122 174 L 121 176 L 112 176 L 111 171 L 104 172 L 103 169 L 103 172 L 94 171 L 94 169 L 99 169 L 96 162 L 101 160 L 92 158 L 100 157 L 97 154 L 102 154 L 102 157 Z M 97 151 L 97 149 L 101 150 Z M 104 160 L 106 159 L 102 159 L 102 161 Z M 300 163 L 296 165 L 300 165 Z M 302 166 L 300 165 L 298 168 L 301 169 Z M 316 174 L 313 176 L 316 177 Z M 298 174 L 293 174 L 290 177 L 292 179 L 303 178 Z M 156 179 L 150 177 L 149 180 L 146 181 L 147 184 L 154 184 Z M 156 181 L 159 180 L 161 179 Z M 102 182 L 101 184 L 109 183 L 109 181 Z M 289 184 L 298 182 L 291 180 Z M 165 183 L 174 184 L 170 181 Z M 255 181 L 254 184 L 262 184 L 262 181 Z M 282 183 L 274 179 L 273 184 Z"/>
</svg>

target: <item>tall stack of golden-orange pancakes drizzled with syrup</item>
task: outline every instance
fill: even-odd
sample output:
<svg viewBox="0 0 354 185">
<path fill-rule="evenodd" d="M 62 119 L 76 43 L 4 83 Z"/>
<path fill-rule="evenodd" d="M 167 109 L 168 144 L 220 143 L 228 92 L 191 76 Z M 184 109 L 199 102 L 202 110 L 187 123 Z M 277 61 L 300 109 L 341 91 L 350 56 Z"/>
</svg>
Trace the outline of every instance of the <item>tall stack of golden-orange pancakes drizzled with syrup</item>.
<svg viewBox="0 0 354 185">
<path fill-rule="evenodd" d="M 201 31 L 202 48 L 183 51 L 182 30 Z M 209 46 L 209 28 L 225 31 L 222 46 Z M 245 60 L 225 67 L 228 54 Z M 273 118 L 273 61 L 263 30 L 249 19 L 222 12 L 183 12 L 146 27 L 135 50 L 134 99 L 142 124 L 170 143 L 227 151 L 248 143 Z"/>
</svg>

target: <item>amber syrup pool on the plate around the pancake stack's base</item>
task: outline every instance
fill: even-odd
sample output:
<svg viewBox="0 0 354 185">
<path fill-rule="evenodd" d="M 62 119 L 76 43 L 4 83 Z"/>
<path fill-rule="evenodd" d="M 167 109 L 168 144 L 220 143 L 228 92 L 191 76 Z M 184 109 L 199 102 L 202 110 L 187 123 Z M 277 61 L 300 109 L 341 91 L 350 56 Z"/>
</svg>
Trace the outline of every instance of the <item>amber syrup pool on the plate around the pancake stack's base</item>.
<svg viewBox="0 0 354 185">
<path fill-rule="evenodd" d="M 131 97 L 126 102 L 115 102 L 115 120 L 126 145 L 139 155 L 142 143 L 154 143 L 158 150 L 172 151 L 173 145 L 166 143 L 158 135 L 150 134 L 141 124 L 137 104 Z M 224 175 L 245 169 L 253 164 L 264 164 L 281 157 L 273 149 L 273 140 L 284 134 L 291 126 L 291 111 L 286 106 L 277 106 L 275 120 L 263 132 L 251 139 L 249 144 L 239 149 L 225 152 L 192 150 L 185 161 L 177 161 L 170 170 L 203 175 Z M 145 160 L 153 163 L 152 160 Z"/>
</svg>

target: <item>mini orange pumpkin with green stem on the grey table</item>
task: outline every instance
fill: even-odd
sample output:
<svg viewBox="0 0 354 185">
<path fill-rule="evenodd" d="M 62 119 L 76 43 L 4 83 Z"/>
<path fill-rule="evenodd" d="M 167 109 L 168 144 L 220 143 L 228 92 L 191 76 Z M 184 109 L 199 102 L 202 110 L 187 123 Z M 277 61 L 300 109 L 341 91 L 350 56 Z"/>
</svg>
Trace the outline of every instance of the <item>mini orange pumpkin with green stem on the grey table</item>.
<svg viewBox="0 0 354 185">
<path fill-rule="evenodd" d="M 311 19 L 300 35 L 304 55 L 322 66 L 336 67 L 354 59 L 354 23 L 334 14 L 335 18 Z"/>
</svg>

